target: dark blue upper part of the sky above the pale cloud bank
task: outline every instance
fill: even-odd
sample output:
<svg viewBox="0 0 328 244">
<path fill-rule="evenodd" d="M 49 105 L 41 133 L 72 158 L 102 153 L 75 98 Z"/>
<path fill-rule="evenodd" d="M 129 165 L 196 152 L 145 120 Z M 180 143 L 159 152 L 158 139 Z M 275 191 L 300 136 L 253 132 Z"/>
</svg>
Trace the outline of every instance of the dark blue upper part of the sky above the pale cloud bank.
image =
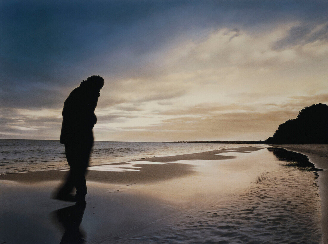
<svg viewBox="0 0 328 244">
<path fill-rule="evenodd" d="M 120 75 L 183 36 L 327 21 L 327 1 L 2 1 L 2 106 L 52 106 L 62 86 Z M 287 40 L 288 41 L 288 40 Z M 103 62 L 106 60 L 106 63 Z M 42 94 L 48 101 L 39 103 Z M 11 99 L 12 98 L 12 99 Z M 60 99 L 58 102 L 61 102 Z"/>
</svg>

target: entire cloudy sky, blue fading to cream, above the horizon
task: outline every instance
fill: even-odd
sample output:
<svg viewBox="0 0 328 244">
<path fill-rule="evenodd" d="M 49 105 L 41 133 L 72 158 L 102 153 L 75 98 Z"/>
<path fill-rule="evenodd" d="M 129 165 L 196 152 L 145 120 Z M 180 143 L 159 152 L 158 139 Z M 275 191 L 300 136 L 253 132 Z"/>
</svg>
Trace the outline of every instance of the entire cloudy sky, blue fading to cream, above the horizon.
<svg viewBox="0 0 328 244">
<path fill-rule="evenodd" d="M 97 141 L 265 140 L 328 103 L 328 1 L 0 1 L 0 138 L 59 140 L 100 75 Z"/>
</svg>

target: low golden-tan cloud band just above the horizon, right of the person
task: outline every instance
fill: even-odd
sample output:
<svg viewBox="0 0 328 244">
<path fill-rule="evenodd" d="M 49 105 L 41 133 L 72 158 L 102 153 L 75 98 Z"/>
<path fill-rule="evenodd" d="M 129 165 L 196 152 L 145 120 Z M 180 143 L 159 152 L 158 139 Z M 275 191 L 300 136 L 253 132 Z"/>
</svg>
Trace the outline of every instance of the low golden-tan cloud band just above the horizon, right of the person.
<svg viewBox="0 0 328 244">
<path fill-rule="evenodd" d="M 198 104 L 180 110 L 158 112 L 153 124 L 124 123 L 108 125 L 96 137 L 129 141 L 196 141 L 196 140 L 265 140 L 278 125 L 297 117 L 298 111 L 313 103 L 324 103 L 327 94 L 290 97 L 272 104 Z M 327 103 L 327 102 L 326 102 Z M 160 118 L 160 115 L 171 118 Z M 139 125 L 136 125 L 139 124 Z M 110 134 L 109 134 L 110 133 Z M 131 140 L 131 139 L 130 139 Z"/>
</svg>

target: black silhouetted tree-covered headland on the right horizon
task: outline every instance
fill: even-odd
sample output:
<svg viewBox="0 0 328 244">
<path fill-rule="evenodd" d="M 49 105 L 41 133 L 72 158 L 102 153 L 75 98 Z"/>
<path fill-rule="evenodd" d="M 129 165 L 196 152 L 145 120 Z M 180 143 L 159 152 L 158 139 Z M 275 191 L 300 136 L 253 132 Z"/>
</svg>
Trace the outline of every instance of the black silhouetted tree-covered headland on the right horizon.
<svg viewBox="0 0 328 244">
<path fill-rule="evenodd" d="M 296 119 L 279 125 L 266 143 L 302 144 L 328 143 L 328 105 L 313 104 L 299 111 Z"/>
</svg>

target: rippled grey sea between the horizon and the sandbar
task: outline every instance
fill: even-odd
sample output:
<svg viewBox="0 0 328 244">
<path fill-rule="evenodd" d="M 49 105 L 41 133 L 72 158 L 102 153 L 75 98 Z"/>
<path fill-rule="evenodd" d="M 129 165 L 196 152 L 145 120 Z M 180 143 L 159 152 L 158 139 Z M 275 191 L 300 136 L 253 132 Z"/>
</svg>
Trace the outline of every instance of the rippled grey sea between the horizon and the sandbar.
<svg viewBox="0 0 328 244">
<path fill-rule="evenodd" d="M 240 144 L 95 141 L 90 165 L 239 146 Z M 0 175 L 65 168 L 69 166 L 64 145 L 59 141 L 0 139 Z"/>
</svg>

